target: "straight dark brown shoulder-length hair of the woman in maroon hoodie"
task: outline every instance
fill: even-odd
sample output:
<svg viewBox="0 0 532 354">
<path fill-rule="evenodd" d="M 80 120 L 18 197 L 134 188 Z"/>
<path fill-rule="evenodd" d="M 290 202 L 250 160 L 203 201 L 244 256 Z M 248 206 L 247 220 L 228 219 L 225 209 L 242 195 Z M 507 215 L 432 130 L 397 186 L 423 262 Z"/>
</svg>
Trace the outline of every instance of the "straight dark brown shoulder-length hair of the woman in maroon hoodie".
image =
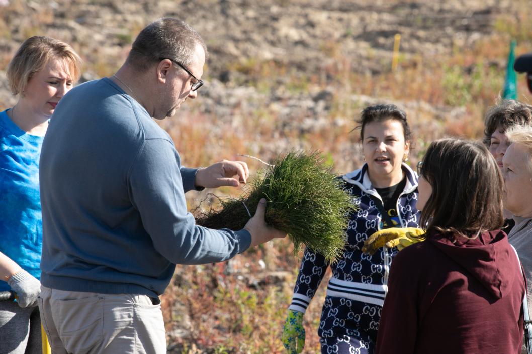
<svg viewBox="0 0 532 354">
<path fill-rule="evenodd" d="M 504 223 L 503 178 L 488 149 L 477 141 L 440 139 L 421 168 L 433 191 L 421 212 L 427 232 L 476 237 Z"/>
</svg>

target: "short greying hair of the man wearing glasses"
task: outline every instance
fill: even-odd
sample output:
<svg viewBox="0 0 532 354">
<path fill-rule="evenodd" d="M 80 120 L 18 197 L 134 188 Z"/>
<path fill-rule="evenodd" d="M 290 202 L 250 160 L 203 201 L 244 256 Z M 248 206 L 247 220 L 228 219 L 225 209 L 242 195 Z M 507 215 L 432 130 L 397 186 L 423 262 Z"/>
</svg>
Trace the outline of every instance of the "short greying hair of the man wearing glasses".
<svg viewBox="0 0 532 354">
<path fill-rule="evenodd" d="M 146 26 L 135 39 L 126 59 L 139 72 L 147 70 L 160 58 L 190 65 L 197 45 L 207 46 L 200 34 L 185 22 L 175 18 L 162 18 Z"/>
</svg>

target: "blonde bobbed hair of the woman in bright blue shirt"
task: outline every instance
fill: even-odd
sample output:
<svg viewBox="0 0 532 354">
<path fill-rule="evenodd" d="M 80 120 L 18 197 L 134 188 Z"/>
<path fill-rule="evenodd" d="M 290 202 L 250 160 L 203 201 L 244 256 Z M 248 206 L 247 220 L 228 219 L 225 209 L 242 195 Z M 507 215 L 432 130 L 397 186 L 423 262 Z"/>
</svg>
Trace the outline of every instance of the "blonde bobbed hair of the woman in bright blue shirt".
<svg viewBox="0 0 532 354">
<path fill-rule="evenodd" d="M 73 82 L 81 76 L 81 57 L 63 41 L 34 36 L 26 39 L 7 66 L 7 82 L 13 95 L 24 92 L 32 77 L 52 59 L 62 59 L 68 65 Z"/>
</svg>

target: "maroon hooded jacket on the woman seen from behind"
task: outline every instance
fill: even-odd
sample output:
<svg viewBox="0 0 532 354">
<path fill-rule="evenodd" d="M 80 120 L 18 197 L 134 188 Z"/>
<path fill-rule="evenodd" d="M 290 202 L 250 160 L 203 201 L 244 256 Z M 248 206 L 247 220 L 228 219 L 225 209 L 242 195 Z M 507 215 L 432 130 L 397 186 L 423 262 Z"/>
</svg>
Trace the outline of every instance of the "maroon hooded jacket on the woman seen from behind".
<svg viewBox="0 0 532 354">
<path fill-rule="evenodd" d="M 377 354 L 521 353 L 524 294 L 504 232 L 433 234 L 393 260 Z"/>
</svg>

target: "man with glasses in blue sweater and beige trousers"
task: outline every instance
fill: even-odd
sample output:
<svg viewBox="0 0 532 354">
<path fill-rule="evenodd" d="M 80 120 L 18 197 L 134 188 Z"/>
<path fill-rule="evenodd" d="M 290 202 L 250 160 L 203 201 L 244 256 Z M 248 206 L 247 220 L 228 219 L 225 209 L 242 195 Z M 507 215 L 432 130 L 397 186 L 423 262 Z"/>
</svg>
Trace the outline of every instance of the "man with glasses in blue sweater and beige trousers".
<svg viewBox="0 0 532 354">
<path fill-rule="evenodd" d="M 220 262 L 286 235 L 265 225 L 264 200 L 239 231 L 197 226 L 187 212 L 186 191 L 248 176 L 243 162 L 182 167 L 152 120 L 197 97 L 206 53 L 187 24 L 157 20 L 117 73 L 57 106 L 40 158 L 39 309 L 55 354 L 166 353 L 158 297 L 176 264 Z"/>
</svg>

